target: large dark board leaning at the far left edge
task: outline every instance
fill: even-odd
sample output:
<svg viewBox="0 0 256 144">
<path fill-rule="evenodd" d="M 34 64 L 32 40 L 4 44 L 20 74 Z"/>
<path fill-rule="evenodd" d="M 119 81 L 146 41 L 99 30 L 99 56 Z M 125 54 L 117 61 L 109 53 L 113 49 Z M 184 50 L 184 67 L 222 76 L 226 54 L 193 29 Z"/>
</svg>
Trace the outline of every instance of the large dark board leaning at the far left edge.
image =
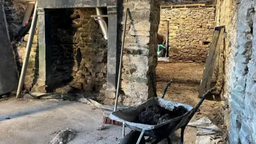
<svg viewBox="0 0 256 144">
<path fill-rule="evenodd" d="M 19 77 L 5 19 L 4 6 L 0 4 L 0 95 L 15 91 Z"/>
</svg>

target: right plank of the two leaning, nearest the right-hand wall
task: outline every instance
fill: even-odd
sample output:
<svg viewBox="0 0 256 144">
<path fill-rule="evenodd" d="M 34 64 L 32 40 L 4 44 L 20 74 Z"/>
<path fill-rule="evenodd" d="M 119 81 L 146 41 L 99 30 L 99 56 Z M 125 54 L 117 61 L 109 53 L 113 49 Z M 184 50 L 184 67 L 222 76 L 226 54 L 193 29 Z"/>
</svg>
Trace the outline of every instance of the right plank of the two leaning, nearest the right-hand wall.
<svg viewBox="0 0 256 144">
<path fill-rule="evenodd" d="M 212 68 L 210 70 L 210 76 L 207 79 L 207 84 L 206 84 L 206 90 L 205 91 L 210 90 L 210 86 L 211 86 L 211 82 L 212 82 L 212 75 L 214 73 L 215 63 L 216 63 L 218 55 L 219 55 L 220 45 L 221 45 L 221 42 L 222 42 L 222 39 L 223 39 L 224 32 L 225 32 L 225 28 L 221 28 L 220 35 L 219 35 L 219 38 L 218 38 L 218 42 L 217 42 L 216 49 L 215 49 L 215 53 L 214 53 L 214 56 L 213 56 Z"/>
</svg>

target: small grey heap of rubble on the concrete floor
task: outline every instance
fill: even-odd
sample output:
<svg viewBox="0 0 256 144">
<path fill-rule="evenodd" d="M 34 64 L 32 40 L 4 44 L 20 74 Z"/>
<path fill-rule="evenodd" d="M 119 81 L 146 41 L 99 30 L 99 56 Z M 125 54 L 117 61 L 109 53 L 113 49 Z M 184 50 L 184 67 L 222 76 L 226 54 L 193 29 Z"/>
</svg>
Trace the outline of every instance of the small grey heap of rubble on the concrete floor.
<svg viewBox="0 0 256 144">
<path fill-rule="evenodd" d="M 64 144 L 73 140 L 75 138 L 76 132 L 70 129 L 62 130 L 55 133 L 55 137 L 53 137 L 50 141 L 51 144 Z"/>
</svg>

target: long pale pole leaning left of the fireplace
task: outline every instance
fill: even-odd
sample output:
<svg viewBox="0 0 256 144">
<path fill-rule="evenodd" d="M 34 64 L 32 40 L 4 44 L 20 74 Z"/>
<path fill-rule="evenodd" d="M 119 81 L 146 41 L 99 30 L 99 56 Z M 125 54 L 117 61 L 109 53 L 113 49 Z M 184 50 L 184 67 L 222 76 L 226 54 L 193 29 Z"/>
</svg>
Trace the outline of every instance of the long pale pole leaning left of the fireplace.
<svg viewBox="0 0 256 144">
<path fill-rule="evenodd" d="M 32 19 L 32 23 L 31 23 L 31 28 L 30 28 L 31 31 L 30 31 L 29 37 L 28 37 L 28 43 L 27 43 L 27 47 L 26 47 L 26 54 L 25 54 L 25 58 L 23 60 L 23 65 L 22 65 L 22 69 L 21 69 L 20 81 L 19 81 L 19 86 L 18 86 L 17 95 L 16 95 L 17 98 L 20 97 L 20 92 L 22 90 L 24 79 L 25 79 L 25 76 L 26 76 L 29 55 L 30 55 L 31 46 L 32 46 L 32 43 L 33 43 L 33 38 L 34 38 L 34 35 L 35 35 L 36 21 L 37 21 L 37 1 L 36 1 L 36 4 L 35 4 L 33 19 Z"/>
</svg>

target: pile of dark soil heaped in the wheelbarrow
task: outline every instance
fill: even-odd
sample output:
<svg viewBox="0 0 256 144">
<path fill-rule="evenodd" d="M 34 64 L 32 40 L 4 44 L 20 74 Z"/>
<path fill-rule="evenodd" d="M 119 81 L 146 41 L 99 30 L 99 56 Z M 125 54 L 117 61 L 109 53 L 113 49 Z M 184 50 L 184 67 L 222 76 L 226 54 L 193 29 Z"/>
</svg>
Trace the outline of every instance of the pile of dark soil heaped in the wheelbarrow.
<svg viewBox="0 0 256 144">
<path fill-rule="evenodd" d="M 174 109 L 167 110 L 161 106 L 154 105 L 146 107 L 138 116 L 135 123 L 156 125 L 168 121 L 170 119 L 179 117 L 187 113 L 187 109 L 182 106 L 174 107 Z"/>
</svg>

